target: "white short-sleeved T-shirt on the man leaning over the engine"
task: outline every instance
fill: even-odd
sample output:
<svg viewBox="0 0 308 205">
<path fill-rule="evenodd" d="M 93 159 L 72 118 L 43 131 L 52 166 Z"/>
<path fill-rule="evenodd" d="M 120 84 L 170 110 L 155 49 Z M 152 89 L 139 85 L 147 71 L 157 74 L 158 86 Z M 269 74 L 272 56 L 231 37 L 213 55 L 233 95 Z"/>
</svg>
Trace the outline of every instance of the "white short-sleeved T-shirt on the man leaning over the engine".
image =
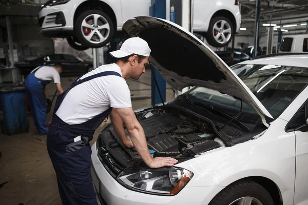
<svg viewBox="0 0 308 205">
<path fill-rule="evenodd" d="M 108 64 L 85 74 L 80 79 L 104 71 L 122 72 L 117 64 Z M 108 75 L 86 81 L 71 89 L 56 112 L 69 125 L 81 124 L 108 108 L 131 107 L 130 91 L 123 77 Z"/>
</svg>

